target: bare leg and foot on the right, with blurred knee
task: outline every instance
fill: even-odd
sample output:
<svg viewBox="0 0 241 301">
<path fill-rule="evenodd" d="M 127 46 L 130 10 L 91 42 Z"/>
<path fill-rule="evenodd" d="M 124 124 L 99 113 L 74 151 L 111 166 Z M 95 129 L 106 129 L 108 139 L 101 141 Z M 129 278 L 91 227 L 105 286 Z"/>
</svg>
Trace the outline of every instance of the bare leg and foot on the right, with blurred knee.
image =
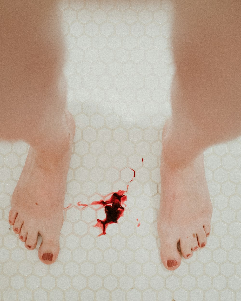
<svg viewBox="0 0 241 301">
<path fill-rule="evenodd" d="M 169 270 L 206 245 L 212 205 L 205 179 L 205 148 L 241 134 L 238 1 L 174 0 L 176 74 L 172 116 L 163 129 L 161 259 Z M 231 17 L 232 16 L 232 17 Z"/>
</svg>

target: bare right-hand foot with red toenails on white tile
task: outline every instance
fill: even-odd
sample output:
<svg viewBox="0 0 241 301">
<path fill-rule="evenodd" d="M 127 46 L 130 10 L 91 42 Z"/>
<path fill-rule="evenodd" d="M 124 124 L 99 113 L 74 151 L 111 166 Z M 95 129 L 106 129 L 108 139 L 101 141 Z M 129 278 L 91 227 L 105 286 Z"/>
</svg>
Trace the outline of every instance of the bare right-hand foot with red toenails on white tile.
<svg viewBox="0 0 241 301">
<path fill-rule="evenodd" d="M 163 137 L 168 125 L 163 129 Z M 164 138 L 162 144 L 164 143 Z M 161 154 L 161 204 L 158 213 L 158 234 L 161 260 L 168 270 L 181 264 L 177 249 L 180 243 L 184 258 L 205 247 L 210 234 L 212 204 L 204 171 L 203 154 L 185 168 L 173 168 Z"/>
</svg>

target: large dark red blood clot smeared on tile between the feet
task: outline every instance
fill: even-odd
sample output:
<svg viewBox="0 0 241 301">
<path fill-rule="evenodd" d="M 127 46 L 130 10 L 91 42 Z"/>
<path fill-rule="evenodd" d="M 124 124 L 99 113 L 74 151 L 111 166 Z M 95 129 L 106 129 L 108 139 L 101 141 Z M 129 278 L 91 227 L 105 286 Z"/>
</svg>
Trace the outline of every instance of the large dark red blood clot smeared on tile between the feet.
<svg viewBox="0 0 241 301">
<path fill-rule="evenodd" d="M 123 205 L 126 206 L 124 202 L 127 200 L 127 196 L 124 195 L 125 192 L 124 190 L 119 190 L 114 192 L 110 199 L 106 201 L 100 200 L 91 203 L 91 205 L 102 205 L 100 208 L 105 207 L 106 218 L 104 220 L 97 219 L 97 224 L 95 225 L 95 227 L 102 228 L 102 233 L 99 236 L 105 235 L 107 226 L 116 224 L 118 219 L 124 215 L 125 209 Z"/>
</svg>

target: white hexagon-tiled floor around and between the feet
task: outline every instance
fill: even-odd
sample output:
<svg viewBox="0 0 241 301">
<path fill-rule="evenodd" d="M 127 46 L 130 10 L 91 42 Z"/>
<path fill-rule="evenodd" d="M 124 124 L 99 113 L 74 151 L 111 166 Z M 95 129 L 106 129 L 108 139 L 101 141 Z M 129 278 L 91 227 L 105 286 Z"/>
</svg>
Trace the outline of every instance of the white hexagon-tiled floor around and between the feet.
<svg viewBox="0 0 241 301">
<path fill-rule="evenodd" d="M 161 131 L 175 69 L 171 4 L 71 0 L 58 9 L 77 126 L 60 253 L 44 265 L 41 237 L 26 250 L 9 226 L 28 145 L 1 142 L 0 300 L 241 300 L 241 139 L 205 151 L 214 206 L 207 246 L 173 272 L 159 256 Z"/>
</svg>

